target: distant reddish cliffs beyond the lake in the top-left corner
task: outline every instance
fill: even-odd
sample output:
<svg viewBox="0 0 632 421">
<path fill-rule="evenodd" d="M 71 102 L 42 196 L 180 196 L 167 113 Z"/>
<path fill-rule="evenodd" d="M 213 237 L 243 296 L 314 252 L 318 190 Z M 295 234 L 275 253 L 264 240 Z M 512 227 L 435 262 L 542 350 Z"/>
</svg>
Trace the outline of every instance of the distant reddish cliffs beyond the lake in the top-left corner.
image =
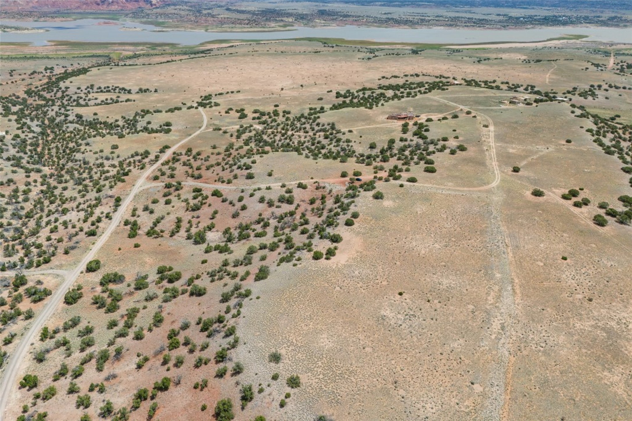
<svg viewBox="0 0 632 421">
<path fill-rule="evenodd" d="M 153 8 L 163 0 L 3 0 L 3 12 L 101 11 Z"/>
</svg>

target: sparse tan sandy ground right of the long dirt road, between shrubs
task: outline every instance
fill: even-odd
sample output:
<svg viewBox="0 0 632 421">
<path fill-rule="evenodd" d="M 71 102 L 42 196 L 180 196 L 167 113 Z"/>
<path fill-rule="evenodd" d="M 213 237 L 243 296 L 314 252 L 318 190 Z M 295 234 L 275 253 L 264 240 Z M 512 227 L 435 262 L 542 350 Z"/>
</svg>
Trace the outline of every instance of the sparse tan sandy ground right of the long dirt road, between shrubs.
<svg viewBox="0 0 632 421">
<path fill-rule="evenodd" d="M 207 110 L 209 128 L 230 127 L 228 133 L 205 131 L 178 150 L 185 152 L 191 147 L 204 157 L 214 150 L 213 144 L 223 150 L 232 141 L 230 133 L 240 124 L 234 113 L 223 113 L 227 107 L 243 106 L 250 113 L 255 107 L 272 109 L 274 104 L 280 104 L 279 109 L 304 112 L 310 106 L 336 102 L 336 90 L 384 83 L 378 82 L 380 76 L 442 73 L 459 78 L 533 83 L 538 88 L 548 88 L 548 81 L 550 88 L 559 92 L 590 83 L 630 85 L 629 76 L 590 66 L 588 61 L 606 66 L 609 57 L 593 54 L 581 45 L 520 44 L 366 60 L 367 52 L 357 47 L 336 47 L 314 54 L 314 50 L 323 50 L 320 44 L 277 43 L 227 49 L 236 52 L 232 56 L 159 66 L 102 68 L 75 78 L 74 83 L 125 82 L 131 88 L 159 87 L 159 94 L 144 100 L 138 95 L 133 104 L 139 108 L 191 104 L 200 95 L 232 90 L 233 94 L 216 97 L 220 107 Z M 477 63 L 481 58 L 490 61 Z M 525 63 L 525 59 L 532 62 Z M 535 59 L 559 61 L 554 62 L 556 68 L 552 71 L 549 61 L 535 63 Z M 422 77 L 402 75 L 388 82 L 403 82 L 407 78 Z M 623 93 L 614 89 L 599 91 L 599 99 L 585 102 L 614 112 L 621 110 L 623 114 L 628 106 L 627 95 L 619 97 Z M 270 264 L 269 279 L 254 283 L 251 275 L 244 281 L 244 288 L 252 288 L 252 299 L 243 303 L 241 316 L 233 320 L 241 342 L 228 362 L 228 367 L 236 361 L 244 363 L 245 372 L 238 377 L 214 379 L 219 365 L 213 362 L 193 369 L 198 355 L 212 357 L 228 342 L 222 335 L 207 339 L 195 325 L 181 333 L 180 338 L 186 334 L 198 345 L 209 340 L 210 346 L 191 353 L 182 347 L 172 351 L 173 358 L 185 357 L 185 366 L 163 366 L 164 351 L 154 354 L 166 343 L 169 329 L 179 327 L 183 319 L 195 322 L 198 316 L 224 312 L 225 305 L 217 298 L 233 281 L 210 283 L 205 274 L 224 255 L 203 253 L 204 247 L 193 247 L 186 240 L 185 228 L 188 219 L 191 224 L 209 223 L 212 210 L 218 209 L 219 216 L 214 220 L 217 228 L 209 239 L 221 241 L 221 229 L 236 222 L 229 217 L 233 207 L 212 198 L 211 207 L 193 216 L 185 212 L 182 202 L 174 201 L 174 207 L 164 205 L 164 188 L 141 190 L 123 219 L 131 218 L 132 207 L 142 209 L 157 198 L 159 204 L 151 204 L 155 214 L 139 212 L 142 233 L 156 216 L 166 212 L 170 214 L 158 227 L 168 233 L 176 216 L 183 216 L 181 232 L 173 238 L 140 235 L 130 239 L 128 227 L 118 226 L 97 257 L 107 271 L 116 270 L 126 276 L 126 283 L 118 287 L 126 291 L 121 310 L 116 314 L 96 310 L 89 300 L 100 293 L 103 271 L 82 274 L 79 282 L 84 285 L 85 298 L 75 306 L 61 305 L 48 322 L 49 326 L 58 326 L 72 315 L 82 315 L 84 321 L 78 328 L 88 321 L 94 324 L 96 345 L 92 349 L 98 350 L 112 336 L 105 326 L 107 320 L 118 318 L 120 327 L 125 308 L 141 308 L 134 329 L 145 327 L 145 339 L 132 340 L 134 329 L 130 329 L 130 337 L 117 341 L 117 346 L 125 348 L 121 360 L 109 361 L 104 372 L 95 371 L 94 362 L 88 363 L 85 374 L 77 380 L 83 394 L 90 382 L 104 381 L 110 373 L 118 375 L 106 382 L 106 394 L 91 394 L 93 403 L 87 412 L 96 418 L 106 399 L 116 408 L 128 406 L 131 394 L 139 387 L 150 388 L 164 375 L 181 375 L 179 386 L 159 394 L 157 418 L 208 419 L 219 398 L 231 397 L 238 403 L 239 384 L 253 384 L 255 390 L 261 385 L 264 391 L 256 393 L 255 400 L 243 412 L 235 408 L 237 420 L 264 414 L 272 420 L 310 421 L 319 413 L 350 421 L 632 418 L 632 384 L 627 364 L 632 343 L 628 328 L 632 317 L 628 288 L 632 237 L 629 227 L 612 222 L 598 228 L 590 222 L 597 212 L 597 202 L 616 204 L 619 195 L 630 193 L 628 177 L 619 170 L 616 157 L 605 155 L 592 143 L 585 132 L 592 123 L 574 117 L 568 104 L 501 107 L 500 101 L 512 94 L 468 87 L 434 92 L 433 96 L 439 99 L 481 114 L 475 119 L 459 111 L 458 119 L 429 123 L 431 137 L 458 135 L 459 139 L 451 139 L 449 144 L 463 143 L 468 147 L 466 152 L 435 156 L 439 169 L 436 174 L 423 173 L 423 166 L 411 166 L 411 175 L 420 180 L 416 186 L 380 183 L 384 200 L 373 200 L 368 194 L 357 198 L 352 210 L 358 210 L 360 217 L 354 226 L 340 227 L 344 241 L 334 259 L 315 262 L 307 258 L 296 262 L 296 266 Z M 605 99 L 607 95 L 610 99 Z M 323 100 L 319 101 L 319 97 Z M 353 128 L 353 133 L 346 136 L 358 150 L 372 141 L 381 147 L 388 138 L 400 135 L 398 126 L 382 126 L 386 123 L 382 111 L 398 107 L 419 109 L 420 114 L 428 116 L 455 111 L 445 102 L 418 97 L 374 110 L 325 113 L 322 121 Z M 133 110 L 123 108 L 119 111 Z M 178 122 L 180 137 L 197 129 L 199 121 L 196 126 L 193 111 L 169 114 L 169 119 Z M 99 114 L 102 112 L 105 110 Z M 490 131 L 482 127 L 483 115 L 493 121 L 500 173 L 497 185 L 492 183 Z M 162 114 L 160 118 L 166 117 Z M 177 137 L 169 137 L 165 143 L 173 144 Z M 573 143 L 566 143 L 567 138 Z M 125 148 L 147 147 L 152 153 L 162 143 L 161 139 L 144 137 L 128 140 L 133 143 Z M 107 139 L 98 142 L 104 147 L 110 144 Z M 259 195 L 281 194 L 284 188 L 277 183 L 310 177 L 337 181 L 327 186 L 332 188 L 331 193 L 327 190 L 331 200 L 343 192 L 340 172 L 362 167 L 353 162 L 307 160 L 288 152 L 256 159 L 255 179 L 245 180 L 241 171 L 240 178 L 231 185 L 237 189 L 226 190 L 226 197 L 231 200 L 238 195 L 246 197 L 248 210 L 243 213 L 244 220 L 255 219 L 258 212 L 280 212 L 257 202 Z M 522 168 L 519 174 L 511 173 L 515 165 Z M 193 181 L 186 180 L 185 169 L 180 164 L 176 166 L 178 179 Z M 268 177 L 270 169 L 274 169 L 274 175 Z M 370 169 L 362 170 L 370 174 Z M 215 183 L 217 173 L 203 172 L 204 178 L 198 181 L 209 185 L 203 187 L 207 192 L 214 188 L 210 185 Z M 130 180 L 121 186 L 121 193 L 133 183 Z M 248 197 L 255 186 L 266 184 L 274 184 L 272 191 L 261 190 Z M 490 187 L 458 190 L 477 186 Z M 544 198 L 529 194 L 535 186 L 546 190 Z M 183 197 L 191 197 L 192 187 L 185 186 Z M 580 187 L 592 200 L 589 207 L 576 209 L 559 198 L 569 188 Z M 300 209 L 308 209 L 302 200 L 320 193 L 312 185 L 305 192 L 295 188 Z M 261 241 L 272 240 L 269 231 Z M 141 247 L 134 248 L 135 242 Z M 258 242 L 252 240 L 253 244 Z M 229 259 L 241 257 L 248 244 L 234 245 Z M 319 243 L 318 247 L 323 246 Z M 82 253 L 86 250 L 83 248 Z M 251 271 L 260 264 L 257 259 L 261 254 L 255 255 Z M 277 255 L 268 254 L 268 262 Z M 562 256 L 568 260 L 562 260 Z M 77 262 L 81 257 L 76 253 L 59 261 L 63 261 L 64 268 L 71 268 L 73 259 Z M 203 259 L 208 261 L 202 263 Z M 145 273 L 154 281 L 155 268 L 160 264 L 171 264 L 182 271 L 182 281 L 200 274 L 198 282 L 207 287 L 207 294 L 179 296 L 169 303 L 161 303 L 160 299 L 145 302 L 146 291 L 134 292 L 127 282 Z M 164 286 L 152 284 L 149 291 L 161 293 Z M 145 305 L 147 308 L 142 308 Z M 233 308 L 231 312 L 234 311 Z M 148 333 L 147 326 L 155 312 L 162 312 L 165 320 L 161 327 Z M 80 340 L 76 330 L 68 333 L 68 338 L 76 350 Z M 39 346 L 35 343 L 30 352 Z M 279 365 L 267 361 L 274 350 L 283 355 Z M 148 355 L 150 360 L 137 370 L 138 353 Z M 42 386 L 49 386 L 61 362 L 72 368 L 84 354 L 75 352 L 64 358 L 63 350 L 53 351 L 41 365 L 26 358 L 20 378 L 37 371 Z M 169 372 L 167 367 L 171 367 Z M 270 380 L 274 372 L 280 374 L 278 381 Z M 284 379 L 291 374 L 300 375 L 300 388 L 286 386 Z M 193 383 L 203 378 L 209 379 L 209 387 L 204 391 L 193 389 Z M 74 408 L 75 396 L 65 393 L 69 382 L 70 378 L 56 382 L 57 396 L 46 403 L 39 401 L 35 409 L 49 412 L 49 419 L 78 418 L 81 411 Z M 289 391 L 288 405 L 279 408 L 279 401 Z M 8 419 L 19 415 L 21 405 L 32 400 L 33 392 L 15 391 L 6 413 Z M 206 412 L 200 411 L 202 403 L 209 405 Z M 149 401 L 143 402 L 130 419 L 145 419 L 149 405 Z"/>
</svg>

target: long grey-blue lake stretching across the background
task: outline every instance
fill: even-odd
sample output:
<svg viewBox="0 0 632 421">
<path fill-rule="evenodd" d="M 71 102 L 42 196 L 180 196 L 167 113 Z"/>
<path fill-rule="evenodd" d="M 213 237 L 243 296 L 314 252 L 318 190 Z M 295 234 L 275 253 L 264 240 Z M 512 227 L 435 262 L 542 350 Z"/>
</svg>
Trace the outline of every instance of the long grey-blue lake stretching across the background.
<svg viewBox="0 0 632 421">
<path fill-rule="evenodd" d="M 105 23 L 104 22 L 110 22 Z M 293 27 L 274 32 L 204 32 L 165 31 L 159 27 L 132 21 L 80 19 L 74 21 L 2 21 L 3 25 L 41 28 L 47 32 L 20 34 L 3 32 L 3 42 L 30 42 L 45 46 L 50 40 L 83 42 L 172 42 L 192 46 L 210 40 L 269 40 L 301 37 L 343 38 L 379 42 L 418 42 L 427 44 L 471 44 L 475 42 L 530 42 L 565 34 L 588 35 L 586 40 L 604 42 L 632 42 L 631 28 L 532 28 L 532 29 L 452 29 L 452 28 L 370 28 L 370 27 Z M 112 24 L 114 23 L 114 24 Z M 123 30 L 136 28 L 136 30 Z"/>
</svg>

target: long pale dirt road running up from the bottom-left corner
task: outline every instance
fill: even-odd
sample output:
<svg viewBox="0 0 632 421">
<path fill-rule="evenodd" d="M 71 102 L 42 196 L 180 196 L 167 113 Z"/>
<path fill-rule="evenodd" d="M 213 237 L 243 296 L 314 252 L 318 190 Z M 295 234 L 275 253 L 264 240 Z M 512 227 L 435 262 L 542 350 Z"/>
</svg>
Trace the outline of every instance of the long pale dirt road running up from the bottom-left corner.
<svg viewBox="0 0 632 421">
<path fill-rule="evenodd" d="M 9 362 L 6 366 L 6 369 L 4 370 L 3 379 L 2 379 L 2 382 L 0 383 L 0 419 L 4 419 L 4 412 L 6 411 L 6 405 L 9 402 L 11 393 L 13 393 L 13 387 L 15 387 L 15 381 L 16 381 L 18 372 L 20 371 L 21 362 L 24 359 L 24 357 L 27 355 L 28 346 L 30 345 L 30 343 L 32 343 L 33 338 L 39 332 L 39 330 L 44 325 L 46 320 L 49 319 L 49 317 L 51 317 L 51 315 L 54 313 L 59 303 L 61 303 L 63 296 L 66 294 L 66 291 L 70 289 L 73 283 L 75 283 L 76 279 L 83 271 L 83 268 L 85 267 L 85 265 L 94 258 L 97 252 L 99 252 L 100 248 L 104 245 L 104 243 L 106 243 L 112 231 L 114 231 L 114 229 L 121 222 L 121 219 L 123 218 L 123 214 L 125 214 L 126 208 L 131 203 L 135 195 L 142 190 L 143 184 L 145 184 L 145 179 L 151 173 L 153 173 L 155 169 L 159 168 L 162 162 L 165 159 L 167 159 L 167 157 L 171 156 L 174 150 L 178 149 L 178 147 L 186 143 L 188 140 L 190 140 L 191 138 L 197 136 L 199 133 L 204 131 L 204 129 L 206 128 L 207 117 L 201 108 L 199 110 L 200 110 L 200 113 L 202 114 L 202 118 L 204 119 L 202 123 L 202 127 L 198 131 L 190 135 L 189 137 L 185 138 L 184 140 L 181 140 L 179 143 L 169 148 L 169 150 L 167 150 L 166 154 L 164 154 L 161 159 L 155 162 L 154 165 L 152 165 L 149 169 L 147 169 L 147 171 L 145 171 L 145 173 L 143 173 L 142 176 L 138 178 L 138 181 L 135 183 L 130 193 L 125 198 L 125 200 L 123 200 L 123 203 L 114 214 L 114 217 L 112 217 L 111 223 L 109 224 L 109 226 L 107 226 L 104 233 L 99 237 L 99 240 L 97 240 L 97 242 L 94 243 L 92 248 L 90 248 L 90 251 L 83 257 L 81 262 L 79 262 L 79 264 L 76 265 L 75 269 L 73 269 L 72 271 L 66 272 L 66 276 L 63 283 L 52 294 L 49 302 L 46 303 L 46 305 L 42 309 L 42 312 L 39 314 L 39 316 L 37 316 L 37 319 L 33 321 L 33 324 L 31 325 L 30 329 L 28 329 L 27 334 L 25 334 L 25 336 L 23 336 L 23 338 L 21 339 L 20 344 L 17 346 L 17 348 L 13 352 L 13 355 L 9 357 Z"/>
</svg>

